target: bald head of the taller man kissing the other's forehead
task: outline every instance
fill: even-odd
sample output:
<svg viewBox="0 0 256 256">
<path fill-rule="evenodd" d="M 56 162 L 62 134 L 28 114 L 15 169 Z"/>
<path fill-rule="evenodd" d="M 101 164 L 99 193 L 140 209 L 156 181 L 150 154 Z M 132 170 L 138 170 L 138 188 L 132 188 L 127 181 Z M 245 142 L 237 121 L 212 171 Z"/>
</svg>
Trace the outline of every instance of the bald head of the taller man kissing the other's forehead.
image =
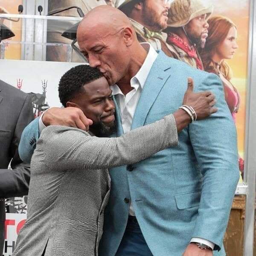
<svg viewBox="0 0 256 256">
<path fill-rule="evenodd" d="M 109 85 L 118 84 L 123 93 L 131 90 L 130 80 L 140 70 L 147 52 L 123 12 L 97 6 L 81 21 L 77 41 L 90 66 L 98 68 Z"/>
</svg>

